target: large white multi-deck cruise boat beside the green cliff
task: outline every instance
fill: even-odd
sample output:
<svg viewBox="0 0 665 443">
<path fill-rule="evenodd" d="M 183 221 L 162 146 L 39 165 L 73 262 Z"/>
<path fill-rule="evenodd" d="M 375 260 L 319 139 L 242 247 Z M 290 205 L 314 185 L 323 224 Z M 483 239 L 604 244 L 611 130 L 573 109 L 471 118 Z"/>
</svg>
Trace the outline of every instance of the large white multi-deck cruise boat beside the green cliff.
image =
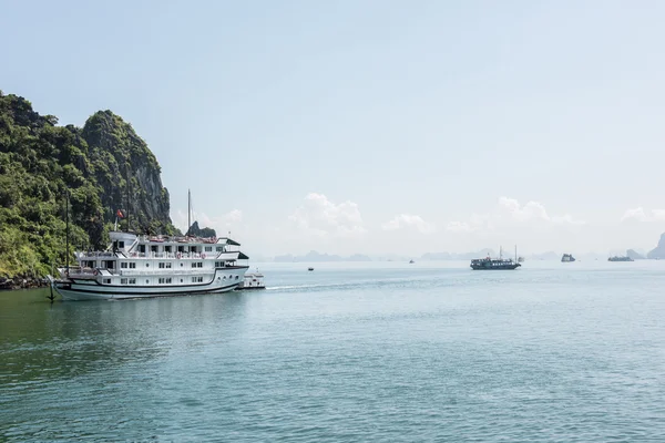
<svg viewBox="0 0 665 443">
<path fill-rule="evenodd" d="M 231 238 L 110 233 L 105 251 L 75 253 L 78 266 L 59 268 L 51 287 L 64 300 L 217 293 L 244 281 L 249 259 Z"/>
</svg>

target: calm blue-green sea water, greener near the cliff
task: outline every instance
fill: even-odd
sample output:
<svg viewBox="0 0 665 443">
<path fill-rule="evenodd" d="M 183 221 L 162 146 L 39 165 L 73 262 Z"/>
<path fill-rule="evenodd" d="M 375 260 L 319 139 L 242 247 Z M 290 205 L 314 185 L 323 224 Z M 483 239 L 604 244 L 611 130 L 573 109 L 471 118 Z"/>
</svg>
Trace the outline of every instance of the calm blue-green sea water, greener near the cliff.
<svg viewBox="0 0 665 443">
<path fill-rule="evenodd" d="M 0 441 L 665 441 L 665 261 L 314 266 L 0 293 Z"/>
</svg>

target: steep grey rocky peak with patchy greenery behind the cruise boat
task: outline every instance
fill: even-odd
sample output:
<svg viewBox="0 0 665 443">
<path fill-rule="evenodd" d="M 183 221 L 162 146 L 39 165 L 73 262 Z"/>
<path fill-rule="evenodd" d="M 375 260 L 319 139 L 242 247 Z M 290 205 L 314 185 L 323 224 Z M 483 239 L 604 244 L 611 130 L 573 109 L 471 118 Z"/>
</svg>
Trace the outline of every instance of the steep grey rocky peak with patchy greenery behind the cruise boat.
<svg viewBox="0 0 665 443">
<path fill-rule="evenodd" d="M 88 119 L 81 136 L 88 143 L 95 177 L 103 189 L 106 220 L 113 220 L 115 210 L 122 208 L 129 212 L 134 230 L 170 230 L 168 190 L 162 186 L 161 167 L 132 125 L 111 111 L 99 111 Z"/>
</svg>

